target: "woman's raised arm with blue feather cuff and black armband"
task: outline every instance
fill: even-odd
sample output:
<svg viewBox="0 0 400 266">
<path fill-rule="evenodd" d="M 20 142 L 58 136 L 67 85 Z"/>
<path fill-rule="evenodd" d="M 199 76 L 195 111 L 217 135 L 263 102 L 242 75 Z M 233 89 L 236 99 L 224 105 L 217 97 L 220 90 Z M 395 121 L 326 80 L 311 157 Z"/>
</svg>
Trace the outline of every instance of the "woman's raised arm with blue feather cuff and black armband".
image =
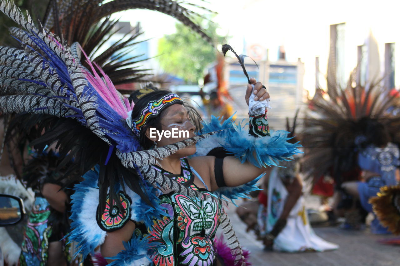
<svg viewBox="0 0 400 266">
<path fill-rule="evenodd" d="M 220 147 L 233 155 L 224 159 L 216 159 L 213 156 L 192 159 L 194 164 L 192 162 L 191 164 L 199 173 L 201 172 L 200 175 L 209 177 L 212 191 L 220 187 L 246 184 L 269 169 L 270 165 L 291 160 L 293 155 L 301 153 L 298 150 L 300 144 L 288 142 L 290 139 L 288 132 L 270 132 L 267 119 L 267 108 L 270 108 L 269 94 L 262 83 L 256 82 L 253 78 L 250 79 L 250 83 L 245 96 L 250 116 L 248 130 L 245 127 L 235 126 L 234 119 L 215 121 L 217 118 L 212 118 L 210 123 L 204 124 L 203 129 L 206 132 L 227 130 L 222 131 L 215 141 L 206 141 L 204 145 L 200 142 L 200 145 L 197 145 L 198 149 L 204 151 L 203 148 L 215 147 L 216 143 L 220 143 Z M 223 153 L 216 151 L 216 148 L 208 151 L 208 154 L 223 157 Z"/>
</svg>

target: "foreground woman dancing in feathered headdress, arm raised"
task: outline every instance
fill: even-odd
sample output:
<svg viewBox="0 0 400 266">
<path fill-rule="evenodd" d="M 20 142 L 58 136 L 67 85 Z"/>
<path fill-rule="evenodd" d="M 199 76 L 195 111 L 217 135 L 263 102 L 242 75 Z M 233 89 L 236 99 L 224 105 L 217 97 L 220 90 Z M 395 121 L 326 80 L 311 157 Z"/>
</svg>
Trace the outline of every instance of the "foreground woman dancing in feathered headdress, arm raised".
<svg viewBox="0 0 400 266">
<path fill-rule="evenodd" d="M 68 237 L 78 253 L 100 245 L 112 265 L 214 265 L 220 224 L 230 250 L 224 260 L 245 265 L 220 198 L 242 197 L 265 167 L 299 152 L 286 131 L 269 131 L 262 84 L 247 76 L 248 130 L 211 119 L 202 129 L 210 133 L 195 135 L 178 95 L 150 92 L 132 108 L 100 67 L 89 60 L 82 66 L 79 44 L 38 30 L 11 2 L 1 1 L 0 9 L 23 28 L 12 30 L 22 49 L 0 48 L 0 111 L 39 115 L 26 122 L 43 129 L 35 147 L 57 141 L 60 156 L 74 158 L 66 175 L 84 173 L 74 187 Z M 174 137 L 176 130 L 187 135 Z M 234 156 L 201 156 L 218 147 Z M 183 158 L 196 150 L 198 157 Z"/>
</svg>

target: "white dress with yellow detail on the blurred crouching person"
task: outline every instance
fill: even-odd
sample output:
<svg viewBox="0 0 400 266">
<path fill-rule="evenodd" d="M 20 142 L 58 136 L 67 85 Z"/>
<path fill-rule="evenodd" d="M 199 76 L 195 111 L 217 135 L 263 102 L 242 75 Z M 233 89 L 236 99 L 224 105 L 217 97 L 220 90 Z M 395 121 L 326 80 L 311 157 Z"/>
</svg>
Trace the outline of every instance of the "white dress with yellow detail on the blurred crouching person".
<svg viewBox="0 0 400 266">
<path fill-rule="evenodd" d="M 266 232 L 270 232 L 283 211 L 288 191 L 278 177 L 278 167 L 272 169 L 268 181 Z M 310 226 L 301 196 L 290 211 L 285 228 L 274 239 L 274 250 L 284 252 L 326 251 L 339 248 L 317 236 Z"/>
</svg>

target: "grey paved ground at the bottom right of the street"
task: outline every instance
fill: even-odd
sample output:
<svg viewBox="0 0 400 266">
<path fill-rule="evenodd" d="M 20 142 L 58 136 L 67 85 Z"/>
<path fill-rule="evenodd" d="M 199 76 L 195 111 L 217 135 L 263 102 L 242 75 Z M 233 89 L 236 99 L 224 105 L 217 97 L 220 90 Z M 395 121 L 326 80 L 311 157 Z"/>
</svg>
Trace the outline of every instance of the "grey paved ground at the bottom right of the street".
<svg viewBox="0 0 400 266">
<path fill-rule="evenodd" d="M 282 253 L 266 252 L 253 233 L 247 233 L 244 224 L 231 205 L 228 211 L 241 245 L 252 252 L 253 266 L 400 266 L 400 246 L 383 245 L 379 239 L 391 235 L 374 235 L 364 231 L 348 231 L 338 227 L 314 228 L 322 238 L 340 245 L 330 252 Z"/>
</svg>

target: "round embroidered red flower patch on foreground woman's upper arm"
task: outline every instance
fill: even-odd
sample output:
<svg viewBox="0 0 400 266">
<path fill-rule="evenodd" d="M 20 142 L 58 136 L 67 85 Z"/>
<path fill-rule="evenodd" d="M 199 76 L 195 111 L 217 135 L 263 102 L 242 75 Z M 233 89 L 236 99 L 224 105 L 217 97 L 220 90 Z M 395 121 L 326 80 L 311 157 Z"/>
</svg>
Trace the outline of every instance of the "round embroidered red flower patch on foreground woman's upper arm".
<svg viewBox="0 0 400 266">
<path fill-rule="evenodd" d="M 96 215 L 97 223 L 104 231 L 112 232 L 118 230 L 130 219 L 130 205 L 132 204 L 132 200 L 122 191 L 120 191 L 119 195 L 123 210 L 120 210 L 116 202 L 110 204 L 110 196 L 107 196 L 106 208 L 101 216 L 98 213 Z"/>
</svg>

